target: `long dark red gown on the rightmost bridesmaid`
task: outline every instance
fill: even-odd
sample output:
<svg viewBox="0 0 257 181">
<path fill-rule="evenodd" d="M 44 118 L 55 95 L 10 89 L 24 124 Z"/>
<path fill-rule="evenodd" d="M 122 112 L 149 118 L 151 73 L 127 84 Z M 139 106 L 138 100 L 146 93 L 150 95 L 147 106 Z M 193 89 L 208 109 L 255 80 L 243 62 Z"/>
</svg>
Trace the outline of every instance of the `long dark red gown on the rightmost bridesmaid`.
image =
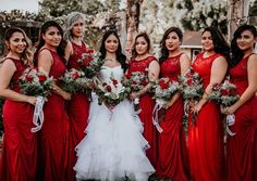
<svg viewBox="0 0 257 181">
<path fill-rule="evenodd" d="M 230 69 L 231 82 L 236 86 L 240 95 L 248 87 L 247 61 L 248 57 Z M 257 98 L 249 101 L 235 111 L 235 124 L 230 126 L 235 135 L 228 135 L 228 181 L 254 181 L 257 171 Z M 256 176 L 255 176 L 256 177 Z"/>
</svg>

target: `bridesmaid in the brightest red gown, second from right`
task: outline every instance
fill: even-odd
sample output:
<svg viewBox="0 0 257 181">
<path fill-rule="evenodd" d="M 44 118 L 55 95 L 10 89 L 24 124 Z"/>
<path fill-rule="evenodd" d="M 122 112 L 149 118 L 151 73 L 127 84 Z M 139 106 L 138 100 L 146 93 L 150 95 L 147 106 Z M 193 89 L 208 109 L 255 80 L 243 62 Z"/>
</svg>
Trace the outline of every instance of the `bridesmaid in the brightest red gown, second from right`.
<svg viewBox="0 0 257 181">
<path fill-rule="evenodd" d="M 223 81 L 230 48 L 222 34 L 215 27 L 207 27 L 201 34 L 204 52 L 199 53 L 192 67 L 203 78 L 205 93 L 192 106 L 196 125 L 188 121 L 188 153 L 192 179 L 196 181 L 224 180 L 223 122 L 215 102 L 208 102 L 213 83 Z M 189 117 L 192 117 L 192 114 Z"/>
</svg>

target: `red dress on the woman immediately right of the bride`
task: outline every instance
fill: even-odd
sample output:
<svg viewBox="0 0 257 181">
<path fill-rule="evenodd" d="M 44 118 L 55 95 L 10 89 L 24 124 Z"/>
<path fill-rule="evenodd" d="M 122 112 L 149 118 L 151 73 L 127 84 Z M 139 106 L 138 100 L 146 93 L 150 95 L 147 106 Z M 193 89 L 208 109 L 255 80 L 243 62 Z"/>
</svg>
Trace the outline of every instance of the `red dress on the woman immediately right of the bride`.
<svg viewBox="0 0 257 181">
<path fill-rule="evenodd" d="M 148 56 L 145 60 L 132 61 L 128 65 L 128 74 L 132 72 L 142 72 L 148 76 L 148 67 L 152 61 L 157 61 L 155 56 Z M 139 118 L 144 124 L 144 138 L 148 141 L 150 148 L 146 151 L 146 155 L 149 158 L 151 165 L 156 167 L 157 152 L 156 152 L 156 128 L 152 125 L 152 111 L 155 101 L 151 99 L 150 93 L 145 93 L 139 99 Z"/>
</svg>

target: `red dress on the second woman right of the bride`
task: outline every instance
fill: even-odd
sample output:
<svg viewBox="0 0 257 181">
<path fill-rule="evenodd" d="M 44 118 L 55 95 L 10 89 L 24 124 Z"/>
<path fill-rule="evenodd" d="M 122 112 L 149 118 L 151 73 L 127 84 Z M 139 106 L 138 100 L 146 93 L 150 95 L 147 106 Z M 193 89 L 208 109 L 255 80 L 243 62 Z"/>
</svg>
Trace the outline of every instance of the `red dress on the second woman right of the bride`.
<svg viewBox="0 0 257 181">
<path fill-rule="evenodd" d="M 161 64 L 161 77 L 178 81 L 181 75 L 180 57 L 183 53 L 167 59 Z M 163 132 L 158 134 L 157 176 L 174 181 L 188 180 L 186 140 L 183 128 L 184 105 L 182 98 L 166 109 L 160 121 Z"/>
</svg>

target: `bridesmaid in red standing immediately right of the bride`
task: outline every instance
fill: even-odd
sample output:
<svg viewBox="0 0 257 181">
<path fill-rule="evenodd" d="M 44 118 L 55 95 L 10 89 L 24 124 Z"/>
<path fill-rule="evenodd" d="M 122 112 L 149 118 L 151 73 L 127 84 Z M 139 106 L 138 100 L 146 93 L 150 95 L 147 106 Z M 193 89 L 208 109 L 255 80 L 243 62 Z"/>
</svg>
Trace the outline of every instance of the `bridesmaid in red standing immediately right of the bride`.
<svg viewBox="0 0 257 181">
<path fill-rule="evenodd" d="M 133 72 L 144 73 L 149 81 L 156 81 L 159 76 L 159 63 L 156 57 L 149 53 L 150 39 L 146 33 L 142 33 L 136 36 L 134 48 L 132 50 L 132 61 L 128 65 L 127 74 Z M 135 100 L 139 98 L 139 118 L 144 124 L 143 135 L 148 141 L 150 148 L 146 151 L 146 155 L 149 158 L 151 165 L 156 166 L 157 153 L 156 153 L 156 128 L 152 125 L 152 111 L 155 102 L 151 99 L 149 89 L 151 83 L 146 85 L 140 91 L 132 92 L 131 99 Z"/>
</svg>

